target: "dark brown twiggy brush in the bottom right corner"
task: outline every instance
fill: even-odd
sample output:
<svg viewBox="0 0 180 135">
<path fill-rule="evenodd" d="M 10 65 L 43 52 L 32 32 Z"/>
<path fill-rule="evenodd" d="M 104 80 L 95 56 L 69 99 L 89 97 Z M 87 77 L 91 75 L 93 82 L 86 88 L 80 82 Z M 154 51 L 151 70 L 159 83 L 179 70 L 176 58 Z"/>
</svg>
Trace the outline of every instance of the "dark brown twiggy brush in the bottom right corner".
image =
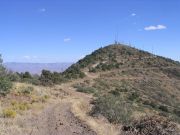
<svg viewBox="0 0 180 135">
<path fill-rule="evenodd" d="M 176 124 L 170 120 L 159 117 L 143 117 L 135 120 L 129 126 L 123 126 L 122 135 L 178 135 Z"/>
</svg>

